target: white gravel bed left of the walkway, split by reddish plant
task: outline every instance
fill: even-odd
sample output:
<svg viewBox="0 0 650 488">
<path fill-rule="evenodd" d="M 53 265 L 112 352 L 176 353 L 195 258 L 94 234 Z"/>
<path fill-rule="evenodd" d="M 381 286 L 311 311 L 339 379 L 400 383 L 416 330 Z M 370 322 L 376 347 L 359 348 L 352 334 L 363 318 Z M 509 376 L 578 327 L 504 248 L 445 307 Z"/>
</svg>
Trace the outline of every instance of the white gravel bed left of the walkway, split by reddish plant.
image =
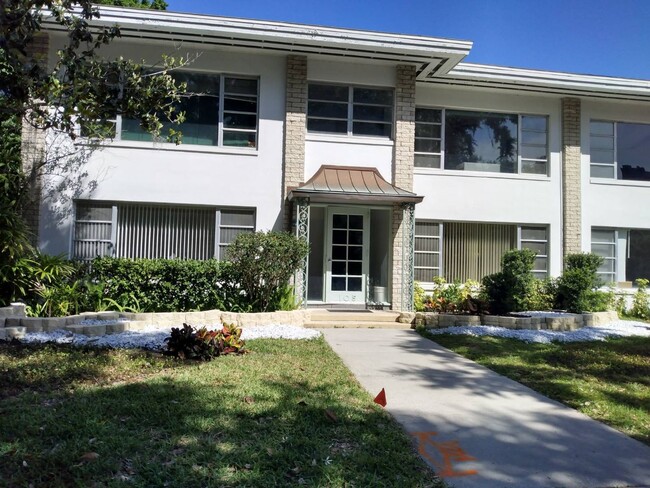
<svg viewBox="0 0 650 488">
<path fill-rule="evenodd" d="M 148 328 L 142 331 L 128 331 L 100 337 L 88 337 L 83 334 L 57 330 L 55 332 L 34 332 L 25 334 L 22 342 L 55 342 L 57 344 L 74 344 L 77 346 L 111 347 L 115 349 L 150 349 L 160 350 L 165 347 L 165 338 L 169 337 L 171 327 Z M 265 325 L 244 327 L 242 339 L 315 339 L 321 333 L 313 329 L 295 325 Z"/>
</svg>

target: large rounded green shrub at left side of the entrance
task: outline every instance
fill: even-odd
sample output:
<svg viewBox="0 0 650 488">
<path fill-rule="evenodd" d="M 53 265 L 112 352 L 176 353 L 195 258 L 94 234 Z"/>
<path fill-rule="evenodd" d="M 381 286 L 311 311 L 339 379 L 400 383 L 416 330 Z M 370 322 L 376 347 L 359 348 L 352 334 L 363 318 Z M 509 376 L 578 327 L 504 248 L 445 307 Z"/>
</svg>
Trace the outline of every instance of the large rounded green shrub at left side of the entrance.
<svg viewBox="0 0 650 488">
<path fill-rule="evenodd" d="M 236 281 L 252 311 L 279 307 L 282 294 L 296 270 L 309 254 L 309 244 L 287 232 L 240 234 L 228 248 Z"/>
</svg>

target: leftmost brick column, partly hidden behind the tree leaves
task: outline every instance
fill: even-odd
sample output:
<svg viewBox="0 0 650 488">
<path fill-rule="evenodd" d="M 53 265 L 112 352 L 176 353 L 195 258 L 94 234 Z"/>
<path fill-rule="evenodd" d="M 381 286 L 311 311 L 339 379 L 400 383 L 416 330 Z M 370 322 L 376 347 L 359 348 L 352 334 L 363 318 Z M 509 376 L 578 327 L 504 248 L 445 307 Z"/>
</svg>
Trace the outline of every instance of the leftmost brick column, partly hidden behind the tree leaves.
<svg viewBox="0 0 650 488">
<path fill-rule="evenodd" d="M 38 33 L 27 47 L 27 57 L 36 63 L 47 66 L 50 39 L 47 33 Z M 22 121 L 20 156 L 23 171 L 27 177 L 28 188 L 23 207 L 23 218 L 31 233 L 30 242 L 38 245 L 38 227 L 41 209 L 41 166 L 45 158 L 45 131 L 34 128 Z"/>
</svg>

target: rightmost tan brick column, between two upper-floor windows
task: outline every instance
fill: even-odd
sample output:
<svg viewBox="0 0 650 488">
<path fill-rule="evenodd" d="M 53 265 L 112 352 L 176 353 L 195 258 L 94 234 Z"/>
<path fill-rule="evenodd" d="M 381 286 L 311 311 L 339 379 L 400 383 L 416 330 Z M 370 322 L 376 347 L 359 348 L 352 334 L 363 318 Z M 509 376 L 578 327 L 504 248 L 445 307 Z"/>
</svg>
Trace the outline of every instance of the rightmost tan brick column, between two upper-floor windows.
<svg viewBox="0 0 650 488">
<path fill-rule="evenodd" d="M 580 99 L 562 99 L 562 253 L 582 250 Z"/>
</svg>

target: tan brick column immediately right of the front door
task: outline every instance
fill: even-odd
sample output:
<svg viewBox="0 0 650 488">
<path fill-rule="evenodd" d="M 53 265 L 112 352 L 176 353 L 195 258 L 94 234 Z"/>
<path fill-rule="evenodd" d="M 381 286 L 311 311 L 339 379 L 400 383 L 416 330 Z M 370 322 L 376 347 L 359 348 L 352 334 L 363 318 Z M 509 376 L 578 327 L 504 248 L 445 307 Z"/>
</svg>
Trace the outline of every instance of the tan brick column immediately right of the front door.
<svg viewBox="0 0 650 488">
<path fill-rule="evenodd" d="M 393 184 L 404 190 L 413 190 L 413 159 L 415 144 L 415 66 L 398 65 L 395 85 L 395 150 L 393 153 Z M 413 249 L 405 249 L 405 233 L 410 232 L 404 210 L 399 204 L 393 205 L 393 282 L 391 304 L 393 310 L 410 310 L 412 304 L 403 303 L 404 287 L 413 283 L 404 282 L 404 266 L 408 265 L 408 254 Z M 407 261 L 405 261 L 407 260 Z"/>
</svg>

